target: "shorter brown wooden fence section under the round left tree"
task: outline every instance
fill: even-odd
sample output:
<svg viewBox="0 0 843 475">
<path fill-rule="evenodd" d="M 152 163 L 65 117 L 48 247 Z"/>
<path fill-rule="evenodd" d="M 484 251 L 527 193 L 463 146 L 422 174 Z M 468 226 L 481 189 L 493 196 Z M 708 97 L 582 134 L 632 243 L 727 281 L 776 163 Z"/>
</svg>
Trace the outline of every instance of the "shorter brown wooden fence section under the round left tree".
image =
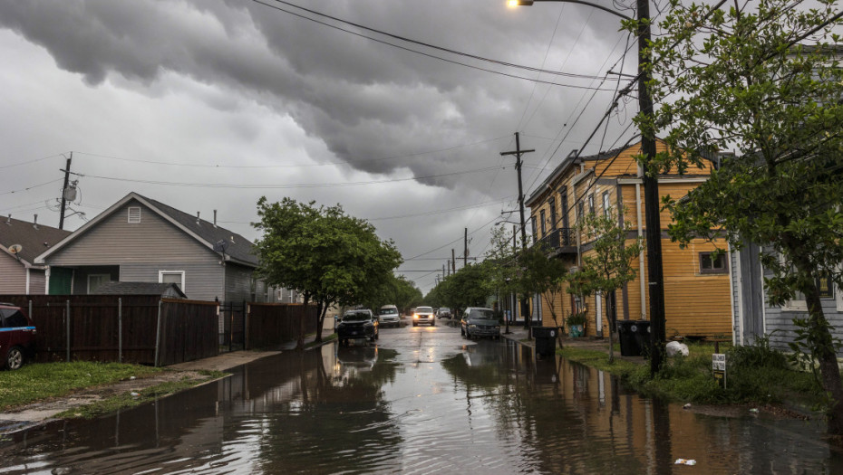
<svg viewBox="0 0 843 475">
<path fill-rule="evenodd" d="M 246 349 L 272 348 L 298 339 L 304 318 L 305 335 L 316 331 L 316 307 L 296 303 L 250 303 Z"/>
</svg>

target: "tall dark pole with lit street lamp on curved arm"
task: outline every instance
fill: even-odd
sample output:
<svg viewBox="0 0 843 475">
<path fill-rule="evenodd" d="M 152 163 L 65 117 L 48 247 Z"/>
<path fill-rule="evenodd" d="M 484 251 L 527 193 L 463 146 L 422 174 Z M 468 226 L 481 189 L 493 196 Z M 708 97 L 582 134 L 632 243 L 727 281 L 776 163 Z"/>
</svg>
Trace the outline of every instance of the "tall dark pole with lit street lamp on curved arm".
<svg viewBox="0 0 843 475">
<path fill-rule="evenodd" d="M 536 2 L 560 2 L 592 6 L 598 10 L 614 14 L 625 20 L 633 20 L 606 8 L 581 0 L 509 0 L 509 6 L 530 6 Z M 646 88 L 647 82 L 652 80 L 649 68 L 649 54 L 647 43 L 650 43 L 650 0 L 636 0 L 636 18 L 638 20 L 638 108 L 648 119 L 653 118 L 653 100 Z M 648 121 L 652 123 L 652 120 Z M 654 375 L 662 366 L 664 357 L 664 274 L 662 271 L 662 224 L 659 219 L 659 182 L 658 177 L 650 176 L 649 165 L 655 157 L 655 138 L 648 134 L 641 135 L 641 152 L 644 155 L 644 222 L 646 224 L 647 240 L 647 274 L 649 280 L 650 297 L 650 373 Z M 643 277 L 643 276 L 642 276 Z M 644 298 L 644 296 L 642 296 Z"/>
</svg>

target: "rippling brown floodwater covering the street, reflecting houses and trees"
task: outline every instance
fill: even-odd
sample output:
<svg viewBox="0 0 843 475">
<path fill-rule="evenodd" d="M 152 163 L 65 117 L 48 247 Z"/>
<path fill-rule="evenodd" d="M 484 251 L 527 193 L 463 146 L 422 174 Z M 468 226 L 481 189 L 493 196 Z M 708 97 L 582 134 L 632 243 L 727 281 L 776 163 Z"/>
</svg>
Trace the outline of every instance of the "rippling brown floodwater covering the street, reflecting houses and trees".
<svg viewBox="0 0 843 475">
<path fill-rule="evenodd" d="M 0 474 L 843 473 L 823 431 L 692 413 L 456 328 L 384 328 L 376 346 L 268 357 L 131 411 L 17 433 L 0 441 Z"/>
</svg>

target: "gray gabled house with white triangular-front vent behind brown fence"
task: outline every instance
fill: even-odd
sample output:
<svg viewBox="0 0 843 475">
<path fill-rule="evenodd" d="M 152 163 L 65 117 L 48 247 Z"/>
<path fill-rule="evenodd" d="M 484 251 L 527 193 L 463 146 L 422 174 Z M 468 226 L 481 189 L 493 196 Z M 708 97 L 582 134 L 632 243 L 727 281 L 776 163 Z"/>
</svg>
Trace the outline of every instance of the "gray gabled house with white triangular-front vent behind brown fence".
<svg viewBox="0 0 843 475">
<path fill-rule="evenodd" d="M 216 213 L 215 213 L 216 214 Z M 110 281 L 175 283 L 189 299 L 277 301 L 253 277 L 252 243 L 214 222 L 130 193 L 35 258 L 47 293 L 93 294 Z"/>
</svg>

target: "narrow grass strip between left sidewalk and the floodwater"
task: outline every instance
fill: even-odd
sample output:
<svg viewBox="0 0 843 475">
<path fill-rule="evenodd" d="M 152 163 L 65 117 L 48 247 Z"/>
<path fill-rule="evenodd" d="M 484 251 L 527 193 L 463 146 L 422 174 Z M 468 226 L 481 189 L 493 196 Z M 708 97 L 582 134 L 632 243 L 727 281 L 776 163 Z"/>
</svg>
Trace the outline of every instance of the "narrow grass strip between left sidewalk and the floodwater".
<svg viewBox="0 0 843 475">
<path fill-rule="evenodd" d="M 146 389 L 141 389 L 134 394 L 130 393 L 123 393 L 118 394 L 102 401 L 97 401 L 92 404 L 86 404 L 80 407 L 76 407 L 73 409 L 69 409 L 64 411 L 63 413 L 56 414 L 56 417 L 59 418 L 82 418 L 82 419 L 92 419 L 94 417 L 99 417 L 103 414 L 113 413 L 118 410 L 122 409 L 130 409 L 132 407 L 136 407 L 140 404 L 149 403 L 155 399 L 159 399 L 164 396 L 168 396 L 170 394 L 180 393 L 186 389 L 189 389 L 196 385 L 201 385 L 202 383 L 206 383 L 213 379 L 218 379 L 226 375 L 226 373 L 222 373 L 220 371 L 199 371 L 200 375 L 203 375 L 201 379 L 191 379 L 189 377 L 185 377 L 180 381 L 169 381 L 166 383 L 161 383 L 160 385 L 154 385 L 148 387 Z"/>
</svg>

